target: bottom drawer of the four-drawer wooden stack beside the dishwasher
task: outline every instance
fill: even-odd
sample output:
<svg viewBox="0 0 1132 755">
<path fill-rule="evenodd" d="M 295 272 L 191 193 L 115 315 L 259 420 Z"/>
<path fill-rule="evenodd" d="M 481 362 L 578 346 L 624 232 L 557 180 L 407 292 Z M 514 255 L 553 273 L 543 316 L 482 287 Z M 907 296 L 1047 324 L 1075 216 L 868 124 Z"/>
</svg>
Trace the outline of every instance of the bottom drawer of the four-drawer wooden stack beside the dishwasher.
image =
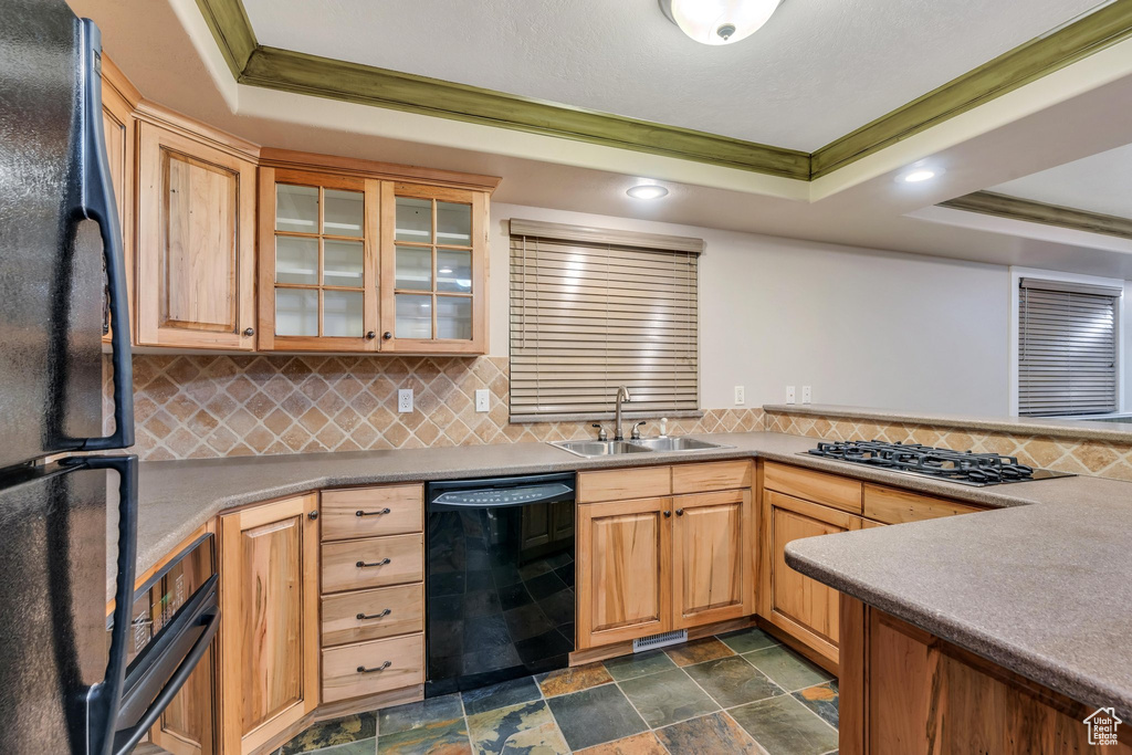
<svg viewBox="0 0 1132 755">
<path fill-rule="evenodd" d="M 324 703 L 423 683 L 424 636 L 421 634 L 359 642 L 323 651 Z"/>
</svg>

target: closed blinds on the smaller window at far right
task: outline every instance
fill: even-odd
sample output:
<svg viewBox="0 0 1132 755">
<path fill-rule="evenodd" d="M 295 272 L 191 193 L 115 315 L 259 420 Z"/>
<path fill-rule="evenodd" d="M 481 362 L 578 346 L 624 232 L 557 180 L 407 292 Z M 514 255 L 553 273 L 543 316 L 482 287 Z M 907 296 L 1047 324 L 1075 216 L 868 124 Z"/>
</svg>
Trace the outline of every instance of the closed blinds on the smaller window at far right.
<svg viewBox="0 0 1132 755">
<path fill-rule="evenodd" d="M 1120 295 L 1118 288 L 1022 278 L 1019 414 L 1054 417 L 1117 410 Z"/>
</svg>

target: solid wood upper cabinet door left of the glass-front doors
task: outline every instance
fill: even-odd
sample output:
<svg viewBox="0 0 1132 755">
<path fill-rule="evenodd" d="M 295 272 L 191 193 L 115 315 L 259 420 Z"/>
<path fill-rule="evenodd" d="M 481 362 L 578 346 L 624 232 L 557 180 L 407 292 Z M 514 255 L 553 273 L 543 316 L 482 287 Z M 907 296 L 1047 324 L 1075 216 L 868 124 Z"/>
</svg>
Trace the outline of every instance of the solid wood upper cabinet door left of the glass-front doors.
<svg viewBox="0 0 1132 755">
<path fill-rule="evenodd" d="M 138 175 L 137 343 L 250 351 L 255 163 L 142 120 Z"/>
</svg>

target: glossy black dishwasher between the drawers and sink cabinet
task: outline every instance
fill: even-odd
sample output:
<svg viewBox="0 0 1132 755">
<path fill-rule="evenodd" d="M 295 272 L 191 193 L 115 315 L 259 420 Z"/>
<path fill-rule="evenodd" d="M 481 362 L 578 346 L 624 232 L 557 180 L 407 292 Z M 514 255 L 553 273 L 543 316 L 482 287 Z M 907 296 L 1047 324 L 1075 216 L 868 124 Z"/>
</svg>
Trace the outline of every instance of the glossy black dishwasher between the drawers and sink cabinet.
<svg viewBox="0 0 1132 755">
<path fill-rule="evenodd" d="M 567 666 L 574 473 L 430 482 L 427 697 Z"/>
</svg>

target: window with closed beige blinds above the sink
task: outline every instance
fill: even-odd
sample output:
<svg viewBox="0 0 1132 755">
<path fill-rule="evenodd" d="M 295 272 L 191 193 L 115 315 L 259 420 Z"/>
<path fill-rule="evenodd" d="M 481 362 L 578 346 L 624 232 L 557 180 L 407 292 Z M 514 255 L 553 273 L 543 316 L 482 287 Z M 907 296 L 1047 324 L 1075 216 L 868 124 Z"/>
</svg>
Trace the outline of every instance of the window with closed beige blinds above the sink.
<svg viewBox="0 0 1132 755">
<path fill-rule="evenodd" d="M 700 410 L 701 239 L 511 221 L 512 421 Z"/>
</svg>

